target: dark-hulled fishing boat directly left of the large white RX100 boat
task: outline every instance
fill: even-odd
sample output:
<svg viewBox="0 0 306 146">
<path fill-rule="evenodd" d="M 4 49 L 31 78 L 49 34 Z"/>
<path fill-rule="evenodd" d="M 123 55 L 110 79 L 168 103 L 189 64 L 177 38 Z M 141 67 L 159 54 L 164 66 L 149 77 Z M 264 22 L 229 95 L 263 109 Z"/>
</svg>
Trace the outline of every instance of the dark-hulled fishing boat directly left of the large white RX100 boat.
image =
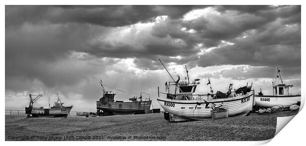
<svg viewBox="0 0 306 146">
<path fill-rule="evenodd" d="M 97 115 L 111 116 L 111 115 L 131 115 L 131 114 L 148 114 L 152 113 L 150 94 L 140 92 L 139 97 L 129 98 L 129 101 L 115 100 L 115 93 L 107 91 L 102 81 L 100 81 L 103 96 L 97 101 Z M 119 90 L 122 91 L 122 90 Z M 149 95 L 149 98 L 142 99 L 142 94 Z"/>
</svg>

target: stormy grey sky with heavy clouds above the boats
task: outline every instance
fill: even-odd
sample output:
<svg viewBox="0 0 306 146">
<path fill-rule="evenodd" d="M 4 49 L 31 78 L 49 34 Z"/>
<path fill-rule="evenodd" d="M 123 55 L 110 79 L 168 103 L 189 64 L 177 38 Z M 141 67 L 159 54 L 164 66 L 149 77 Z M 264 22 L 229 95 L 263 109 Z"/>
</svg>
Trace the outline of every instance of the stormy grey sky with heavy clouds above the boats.
<svg viewBox="0 0 306 146">
<path fill-rule="evenodd" d="M 58 93 L 72 111 L 96 111 L 99 81 L 150 93 L 160 108 L 172 76 L 201 79 L 196 93 L 253 83 L 272 94 L 277 67 L 301 94 L 300 5 L 6 5 L 5 109 L 24 109 L 28 94 L 48 106 Z M 279 80 L 276 80 L 279 83 Z M 116 91 L 117 100 L 133 95 Z M 146 95 L 144 95 L 146 97 Z M 148 98 L 148 97 L 146 97 Z"/>
</svg>

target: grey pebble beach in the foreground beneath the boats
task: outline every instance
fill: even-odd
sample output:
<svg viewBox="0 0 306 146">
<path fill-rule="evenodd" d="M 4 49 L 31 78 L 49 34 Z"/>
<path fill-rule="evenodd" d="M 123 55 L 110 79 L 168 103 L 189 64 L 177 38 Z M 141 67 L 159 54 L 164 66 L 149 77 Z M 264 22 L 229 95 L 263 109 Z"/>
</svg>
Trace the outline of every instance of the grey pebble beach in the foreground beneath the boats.
<svg viewBox="0 0 306 146">
<path fill-rule="evenodd" d="M 276 117 L 295 111 L 168 122 L 163 113 L 104 117 L 27 118 L 5 115 L 5 141 L 263 141 L 274 137 Z"/>
</svg>

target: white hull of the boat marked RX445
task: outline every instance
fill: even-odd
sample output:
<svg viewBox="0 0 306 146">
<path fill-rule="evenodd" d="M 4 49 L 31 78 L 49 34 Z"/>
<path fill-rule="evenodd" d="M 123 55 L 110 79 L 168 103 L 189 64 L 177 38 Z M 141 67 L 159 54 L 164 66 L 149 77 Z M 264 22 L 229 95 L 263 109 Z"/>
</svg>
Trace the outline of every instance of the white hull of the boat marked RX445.
<svg viewBox="0 0 306 146">
<path fill-rule="evenodd" d="M 284 106 L 289 108 L 293 104 L 301 102 L 301 95 L 272 96 L 255 95 L 255 105 L 258 107 L 271 108 L 273 106 Z"/>
</svg>

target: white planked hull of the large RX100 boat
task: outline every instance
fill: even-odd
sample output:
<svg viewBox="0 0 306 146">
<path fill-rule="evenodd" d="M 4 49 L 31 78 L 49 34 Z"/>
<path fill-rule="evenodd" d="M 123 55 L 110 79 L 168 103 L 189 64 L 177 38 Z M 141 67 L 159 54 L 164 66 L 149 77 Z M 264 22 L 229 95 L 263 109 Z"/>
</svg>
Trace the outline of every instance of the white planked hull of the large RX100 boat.
<svg viewBox="0 0 306 146">
<path fill-rule="evenodd" d="M 211 117 L 211 108 L 205 108 L 205 104 L 196 104 L 196 102 L 204 103 L 203 99 L 175 100 L 168 98 L 157 98 L 157 101 L 165 112 L 168 112 L 177 117 L 196 120 Z M 241 96 L 230 97 L 227 99 L 205 99 L 205 101 L 209 102 L 209 106 L 211 105 L 211 103 L 220 105 L 224 101 L 222 108 L 228 110 L 229 116 L 246 115 L 253 109 L 254 93 L 253 91 L 251 91 Z"/>
</svg>

